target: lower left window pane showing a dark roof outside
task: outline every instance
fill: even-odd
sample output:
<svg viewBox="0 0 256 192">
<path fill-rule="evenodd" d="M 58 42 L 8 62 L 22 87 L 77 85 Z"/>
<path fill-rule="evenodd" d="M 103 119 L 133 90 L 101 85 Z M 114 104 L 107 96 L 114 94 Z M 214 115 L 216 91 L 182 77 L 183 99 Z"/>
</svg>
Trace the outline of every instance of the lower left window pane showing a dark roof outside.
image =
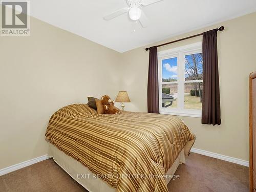
<svg viewBox="0 0 256 192">
<path fill-rule="evenodd" d="M 162 84 L 162 108 L 177 108 L 178 83 Z"/>
</svg>

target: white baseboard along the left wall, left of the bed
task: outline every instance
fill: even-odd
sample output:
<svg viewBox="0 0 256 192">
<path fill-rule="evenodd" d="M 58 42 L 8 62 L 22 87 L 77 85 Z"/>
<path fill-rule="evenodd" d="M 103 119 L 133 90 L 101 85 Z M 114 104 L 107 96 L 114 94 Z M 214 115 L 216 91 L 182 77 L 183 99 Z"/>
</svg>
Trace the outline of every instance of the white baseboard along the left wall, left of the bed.
<svg viewBox="0 0 256 192">
<path fill-rule="evenodd" d="M 43 155 L 41 157 L 36 157 L 34 159 L 30 159 L 28 161 L 24 161 L 24 162 L 18 163 L 16 165 L 12 165 L 12 166 L 0 169 L 0 176 L 8 174 L 10 172 L 13 172 L 14 170 L 17 170 L 17 169 L 20 169 L 20 168 L 32 165 L 34 163 L 38 163 L 40 161 L 44 161 L 44 160 L 49 159 L 49 158 L 50 157 L 48 155 Z"/>
</svg>

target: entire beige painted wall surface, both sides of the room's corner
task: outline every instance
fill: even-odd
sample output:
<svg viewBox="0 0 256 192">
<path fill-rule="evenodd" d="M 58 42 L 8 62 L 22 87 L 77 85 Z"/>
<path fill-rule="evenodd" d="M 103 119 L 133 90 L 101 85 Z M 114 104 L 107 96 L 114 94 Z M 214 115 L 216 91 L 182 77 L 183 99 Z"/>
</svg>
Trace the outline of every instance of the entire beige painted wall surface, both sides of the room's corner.
<svg viewBox="0 0 256 192">
<path fill-rule="evenodd" d="M 222 124 L 202 125 L 200 118 L 181 117 L 197 135 L 196 148 L 248 160 L 248 75 L 256 70 L 255 21 L 253 13 L 172 38 L 225 26 L 218 33 Z M 146 111 L 145 47 L 120 54 L 34 18 L 31 36 L 0 36 L 0 45 L 0 169 L 47 154 L 44 135 L 50 116 L 62 106 L 87 102 L 87 96 L 114 98 L 127 90 L 132 102 L 126 109 Z"/>
</svg>

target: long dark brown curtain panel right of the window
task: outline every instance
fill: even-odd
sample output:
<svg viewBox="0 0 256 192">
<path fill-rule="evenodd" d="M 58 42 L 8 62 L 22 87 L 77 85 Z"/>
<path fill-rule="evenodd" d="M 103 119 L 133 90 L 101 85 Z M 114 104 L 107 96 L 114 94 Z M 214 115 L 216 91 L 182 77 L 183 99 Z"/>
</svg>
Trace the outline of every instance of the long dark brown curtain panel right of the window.
<svg viewBox="0 0 256 192">
<path fill-rule="evenodd" d="M 217 31 L 203 33 L 202 124 L 221 124 Z"/>
</svg>

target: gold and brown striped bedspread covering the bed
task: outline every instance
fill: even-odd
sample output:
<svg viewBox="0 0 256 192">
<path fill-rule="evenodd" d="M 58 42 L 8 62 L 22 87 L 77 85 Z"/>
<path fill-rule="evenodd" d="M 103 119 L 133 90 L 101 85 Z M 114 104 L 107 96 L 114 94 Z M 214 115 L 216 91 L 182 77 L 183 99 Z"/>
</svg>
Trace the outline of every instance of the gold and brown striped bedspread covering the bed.
<svg viewBox="0 0 256 192">
<path fill-rule="evenodd" d="M 195 136 L 175 116 L 99 115 L 87 104 L 53 114 L 46 139 L 117 191 L 167 191 L 164 175 Z"/>
</svg>

